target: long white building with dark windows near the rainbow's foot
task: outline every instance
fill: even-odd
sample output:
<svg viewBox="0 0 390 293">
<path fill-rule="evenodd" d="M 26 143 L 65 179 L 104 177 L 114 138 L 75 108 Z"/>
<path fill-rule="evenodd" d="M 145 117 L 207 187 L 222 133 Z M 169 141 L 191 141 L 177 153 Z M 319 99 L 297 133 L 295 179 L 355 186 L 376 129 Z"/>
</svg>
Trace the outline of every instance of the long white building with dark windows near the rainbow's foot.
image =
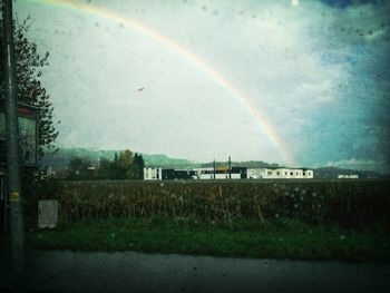
<svg viewBox="0 0 390 293">
<path fill-rule="evenodd" d="M 306 179 L 313 178 L 312 169 L 299 168 L 248 168 L 248 179 Z"/>
</svg>

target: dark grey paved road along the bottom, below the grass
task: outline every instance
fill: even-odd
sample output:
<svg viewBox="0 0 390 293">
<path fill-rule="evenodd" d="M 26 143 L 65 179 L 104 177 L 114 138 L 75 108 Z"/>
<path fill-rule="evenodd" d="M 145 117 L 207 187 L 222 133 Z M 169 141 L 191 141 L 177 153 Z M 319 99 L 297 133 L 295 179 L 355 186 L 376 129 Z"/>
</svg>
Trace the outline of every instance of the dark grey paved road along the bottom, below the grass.
<svg viewBox="0 0 390 293">
<path fill-rule="evenodd" d="M 390 264 L 59 251 L 26 261 L 30 292 L 390 292 Z"/>
</svg>

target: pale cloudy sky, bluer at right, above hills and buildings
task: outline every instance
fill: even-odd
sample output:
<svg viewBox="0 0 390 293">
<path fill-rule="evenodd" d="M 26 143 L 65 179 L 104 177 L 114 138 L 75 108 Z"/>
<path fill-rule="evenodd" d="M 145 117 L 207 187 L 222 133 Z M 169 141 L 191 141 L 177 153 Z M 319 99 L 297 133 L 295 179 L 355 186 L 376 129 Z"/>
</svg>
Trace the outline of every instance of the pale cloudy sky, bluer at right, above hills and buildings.
<svg viewBox="0 0 390 293">
<path fill-rule="evenodd" d="M 390 1 L 17 0 L 60 147 L 389 172 Z"/>
</svg>

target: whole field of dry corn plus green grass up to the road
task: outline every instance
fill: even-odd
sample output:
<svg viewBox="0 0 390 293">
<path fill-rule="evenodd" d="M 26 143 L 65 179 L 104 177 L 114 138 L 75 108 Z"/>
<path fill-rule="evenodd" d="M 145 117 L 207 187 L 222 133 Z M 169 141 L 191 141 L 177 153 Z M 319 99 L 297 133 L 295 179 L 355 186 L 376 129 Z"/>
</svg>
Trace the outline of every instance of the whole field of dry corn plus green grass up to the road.
<svg viewBox="0 0 390 293">
<path fill-rule="evenodd" d="M 52 182 L 30 191 L 36 248 L 389 262 L 390 180 Z M 59 226 L 36 228 L 38 198 Z"/>
</svg>

